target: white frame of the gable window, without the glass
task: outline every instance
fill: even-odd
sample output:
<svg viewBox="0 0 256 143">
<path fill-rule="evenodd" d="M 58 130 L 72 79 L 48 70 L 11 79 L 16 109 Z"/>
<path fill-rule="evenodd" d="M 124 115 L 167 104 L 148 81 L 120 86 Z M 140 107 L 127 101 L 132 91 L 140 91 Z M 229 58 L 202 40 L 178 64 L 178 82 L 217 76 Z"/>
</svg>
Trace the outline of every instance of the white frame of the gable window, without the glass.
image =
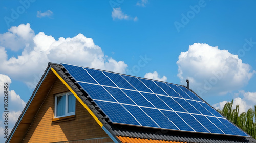
<svg viewBox="0 0 256 143">
<path fill-rule="evenodd" d="M 60 93 L 60 94 L 56 94 L 54 97 L 54 118 L 60 118 L 60 117 L 65 117 L 65 116 L 71 116 L 71 115 L 75 115 L 76 114 L 76 107 L 75 107 L 75 111 L 74 112 L 70 112 L 68 113 L 68 96 L 69 95 L 73 95 L 71 92 L 66 92 L 66 93 Z M 56 116 L 57 115 L 57 97 L 60 96 L 66 96 L 66 100 L 65 100 L 65 115 L 62 116 Z M 73 95 L 74 96 L 74 95 Z M 75 100 L 76 101 L 76 100 Z"/>
</svg>

